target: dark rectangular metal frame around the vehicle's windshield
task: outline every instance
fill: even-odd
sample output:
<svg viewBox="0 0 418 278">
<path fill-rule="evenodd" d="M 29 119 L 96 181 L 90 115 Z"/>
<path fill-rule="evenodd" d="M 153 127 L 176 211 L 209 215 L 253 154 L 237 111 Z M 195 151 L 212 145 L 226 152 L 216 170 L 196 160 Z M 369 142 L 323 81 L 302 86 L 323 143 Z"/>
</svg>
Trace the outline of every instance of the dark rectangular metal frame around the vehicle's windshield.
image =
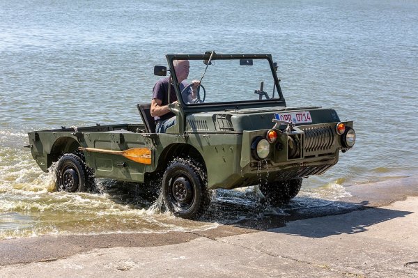
<svg viewBox="0 0 418 278">
<path fill-rule="evenodd" d="M 207 54 L 167 54 L 167 62 L 169 68 L 171 69 L 171 78 L 173 80 L 174 89 L 176 91 L 177 99 L 180 104 L 183 106 L 183 109 L 196 109 L 196 110 L 212 110 L 219 109 L 219 107 L 225 107 L 226 109 L 240 109 L 248 107 L 271 107 L 271 106 L 281 106 L 286 107 L 286 102 L 284 100 L 283 94 L 281 92 L 279 79 L 277 78 L 276 68 L 272 61 L 272 56 L 270 54 L 213 54 L 212 61 L 215 60 L 239 60 L 239 59 L 259 59 L 267 60 L 270 65 L 270 70 L 272 72 L 272 77 L 274 79 L 274 84 L 277 88 L 277 97 L 270 100 L 240 100 L 240 101 L 225 101 L 225 102 L 210 102 L 210 103 L 199 103 L 199 104 L 190 104 L 185 103 L 181 97 L 180 84 L 176 77 L 173 61 L 174 60 L 208 60 L 212 52 L 207 52 Z M 233 72 L 231 72 L 233 74 Z M 204 79 L 203 79 L 204 81 Z M 204 82 L 202 82 L 204 84 Z"/>
</svg>

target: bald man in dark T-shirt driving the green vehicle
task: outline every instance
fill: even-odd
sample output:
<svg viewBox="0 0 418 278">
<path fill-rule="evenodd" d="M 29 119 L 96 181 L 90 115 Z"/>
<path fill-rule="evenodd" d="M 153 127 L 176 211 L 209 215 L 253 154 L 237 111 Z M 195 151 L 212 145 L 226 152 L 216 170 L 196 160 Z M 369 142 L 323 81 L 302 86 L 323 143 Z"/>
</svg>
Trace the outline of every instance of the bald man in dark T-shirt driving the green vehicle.
<svg viewBox="0 0 418 278">
<path fill-rule="evenodd" d="M 189 61 L 174 60 L 173 65 L 177 80 L 180 82 L 180 91 L 183 91 L 183 89 L 187 86 L 185 80 L 189 76 Z M 194 100 L 196 99 L 196 91 L 199 87 L 199 81 L 193 80 L 192 84 L 193 86 L 191 86 L 191 90 L 185 92 L 184 95 L 182 93 L 183 100 L 185 100 L 185 102 L 194 103 Z M 176 124 L 176 114 L 171 112 L 169 108 L 169 86 L 171 86 L 170 102 L 178 103 L 176 91 L 174 91 L 174 86 L 170 77 L 158 80 L 153 88 L 153 100 L 151 100 L 150 114 L 154 117 L 155 131 L 157 133 L 165 133 L 167 128 Z"/>
</svg>

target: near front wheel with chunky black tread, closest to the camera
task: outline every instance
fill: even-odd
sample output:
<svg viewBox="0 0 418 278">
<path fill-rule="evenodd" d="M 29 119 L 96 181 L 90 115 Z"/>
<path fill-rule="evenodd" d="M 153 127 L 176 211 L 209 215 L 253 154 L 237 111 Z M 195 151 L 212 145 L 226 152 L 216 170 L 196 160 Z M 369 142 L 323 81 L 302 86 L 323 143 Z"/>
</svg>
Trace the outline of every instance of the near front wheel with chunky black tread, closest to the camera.
<svg viewBox="0 0 418 278">
<path fill-rule="evenodd" d="M 200 217 L 210 204 L 206 171 L 193 160 L 176 158 L 164 172 L 162 195 L 173 215 L 187 219 Z"/>
</svg>

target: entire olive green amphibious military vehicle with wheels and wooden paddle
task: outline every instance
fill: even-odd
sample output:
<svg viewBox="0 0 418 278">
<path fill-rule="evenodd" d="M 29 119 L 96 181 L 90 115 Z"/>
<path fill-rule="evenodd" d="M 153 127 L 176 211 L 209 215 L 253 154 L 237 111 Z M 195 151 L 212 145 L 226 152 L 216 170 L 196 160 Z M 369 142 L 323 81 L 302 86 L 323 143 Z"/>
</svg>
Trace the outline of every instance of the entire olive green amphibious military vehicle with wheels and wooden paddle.
<svg viewBox="0 0 418 278">
<path fill-rule="evenodd" d="M 180 86 L 176 60 L 189 60 L 189 76 L 201 82 L 193 101 L 183 99 L 190 86 Z M 258 185 L 276 206 L 355 144 L 353 122 L 334 109 L 286 106 L 270 54 L 169 54 L 167 63 L 154 68 L 168 73 L 178 99 L 169 105 L 176 125 L 166 133 L 155 133 L 149 103 L 137 105 L 142 123 L 29 132 L 40 168 L 56 162 L 57 190 L 88 190 L 93 175 L 155 182 L 173 215 L 196 218 L 211 190 Z"/>
</svg>

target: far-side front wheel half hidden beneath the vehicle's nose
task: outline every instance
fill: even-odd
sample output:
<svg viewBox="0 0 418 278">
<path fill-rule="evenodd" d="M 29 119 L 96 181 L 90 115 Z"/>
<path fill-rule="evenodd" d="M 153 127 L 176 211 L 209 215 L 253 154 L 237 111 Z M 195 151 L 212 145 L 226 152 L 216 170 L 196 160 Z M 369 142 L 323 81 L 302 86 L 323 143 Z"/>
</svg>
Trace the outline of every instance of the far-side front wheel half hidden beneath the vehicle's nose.
<svg viewBox="0 0 418 278">
<path fill-rule="evenodd" d="M 279 180 L 274 183 L 261 184 L 258 187 L 272 206 L 286 205 L 299 193 L 302 178 Z"/>
</svg>

